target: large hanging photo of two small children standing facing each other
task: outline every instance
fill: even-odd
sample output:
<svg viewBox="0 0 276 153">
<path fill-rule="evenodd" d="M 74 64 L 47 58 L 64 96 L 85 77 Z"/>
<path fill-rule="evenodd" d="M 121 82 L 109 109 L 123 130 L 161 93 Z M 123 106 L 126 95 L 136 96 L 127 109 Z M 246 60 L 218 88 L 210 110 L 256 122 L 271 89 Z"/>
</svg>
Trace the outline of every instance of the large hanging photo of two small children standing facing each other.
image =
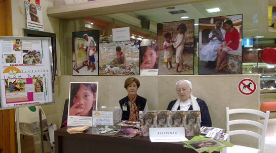
<svg viewBox="0 0 276 153">
<path fill-rule="evenodd" d="M 157 24 L 159 75 L 193 74 L 194 20 Z"/>
</svg>

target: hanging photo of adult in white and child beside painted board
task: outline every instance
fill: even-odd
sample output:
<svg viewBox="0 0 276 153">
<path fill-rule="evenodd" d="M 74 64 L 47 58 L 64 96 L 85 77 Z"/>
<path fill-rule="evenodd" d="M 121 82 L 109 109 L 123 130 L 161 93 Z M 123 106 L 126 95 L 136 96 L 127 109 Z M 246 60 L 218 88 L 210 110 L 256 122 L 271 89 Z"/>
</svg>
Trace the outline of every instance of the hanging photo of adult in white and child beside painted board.
<svg viewBox="0 0 276 153">
<path fill-rule="evenodd" d="M 72 32 L 73 75 L 98 75 L 99 30 Z"/>
</svg>

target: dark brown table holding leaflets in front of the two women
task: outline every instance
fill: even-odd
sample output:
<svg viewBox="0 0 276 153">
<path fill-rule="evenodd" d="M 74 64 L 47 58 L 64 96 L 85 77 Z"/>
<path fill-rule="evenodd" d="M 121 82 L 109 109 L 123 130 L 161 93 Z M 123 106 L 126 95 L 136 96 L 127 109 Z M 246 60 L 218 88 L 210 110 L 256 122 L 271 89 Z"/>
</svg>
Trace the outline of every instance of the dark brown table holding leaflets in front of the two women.
<svg viewBox="0 0 276 153">
<path fill-rule="evenodd" d="M 70 128 L 70 127 L 68 127 Z M 92 134 L 92 128 L 80 134 L 69 134 L 67 127 L 55 130 L 55 152 L 193 152 L 195 150 L 183 147 L 183 142 L 150 142 L 149 137 L 136 135 L 133 138 L 115 135 Z M 191 139 L 192 136 L 187 137 Z"/>
</svg>

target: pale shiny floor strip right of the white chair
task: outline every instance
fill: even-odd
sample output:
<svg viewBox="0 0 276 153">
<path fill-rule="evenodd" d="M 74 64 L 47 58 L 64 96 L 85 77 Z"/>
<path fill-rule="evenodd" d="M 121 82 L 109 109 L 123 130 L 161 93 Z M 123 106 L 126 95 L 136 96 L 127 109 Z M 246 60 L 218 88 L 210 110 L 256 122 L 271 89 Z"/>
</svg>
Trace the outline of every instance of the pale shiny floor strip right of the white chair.
<svg viewBox="0 0 276 153">
<path fill-rule="evenodd" d="M 264 151 L 265 153 L 276 152 L 276 118 L 268 120 Z"/>
</svg>

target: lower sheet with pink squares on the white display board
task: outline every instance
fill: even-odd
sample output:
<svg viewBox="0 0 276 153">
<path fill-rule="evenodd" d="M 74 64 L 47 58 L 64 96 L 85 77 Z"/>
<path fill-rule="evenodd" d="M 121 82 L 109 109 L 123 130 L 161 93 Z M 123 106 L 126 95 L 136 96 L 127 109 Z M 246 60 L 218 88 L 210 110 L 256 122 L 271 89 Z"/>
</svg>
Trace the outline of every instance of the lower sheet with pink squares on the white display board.
<svg viewBox="0 0 276 153">
<path fill-rule="evenodd" d="M 1 90 L 5 91 L 2 92 L 2 97 L 6 100 L 2 98 L 2 107 L 48 102 L 48 80 L 45 76 L 46 74 L 42 73 L 31 73 L 28 76 L 20 73 L 18 77 L 2 79 Z"/>
</svg>

